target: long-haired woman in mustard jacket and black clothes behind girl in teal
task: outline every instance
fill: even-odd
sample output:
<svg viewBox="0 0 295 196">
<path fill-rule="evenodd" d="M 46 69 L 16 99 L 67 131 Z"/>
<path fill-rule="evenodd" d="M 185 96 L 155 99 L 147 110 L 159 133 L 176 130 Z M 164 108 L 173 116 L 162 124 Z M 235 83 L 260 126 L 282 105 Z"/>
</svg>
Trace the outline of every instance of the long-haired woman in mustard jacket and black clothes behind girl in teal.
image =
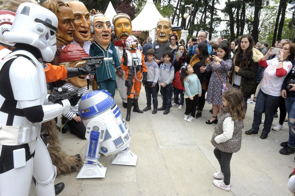
<svg viewBox="0 0 295 196">
<path fill-rule="evenodd" d="M 194 69 L 194 73 L 197 74 L 202 84 L 205 81 L 205 67 L 207 65 L 207 59 L 209 58 L 207 44 L 205 42 L 199 43 L 196 47 L 196 53 L 197 54 L 191 58 L 191 62 L 189 64 Z M 199 97 L 199 107 L 196 118 L 201 118 L 202 116 L 202 110 L 205 105 L 205 94 L 206 89 L 202 89 L 202 96 Z"/>
</svg>

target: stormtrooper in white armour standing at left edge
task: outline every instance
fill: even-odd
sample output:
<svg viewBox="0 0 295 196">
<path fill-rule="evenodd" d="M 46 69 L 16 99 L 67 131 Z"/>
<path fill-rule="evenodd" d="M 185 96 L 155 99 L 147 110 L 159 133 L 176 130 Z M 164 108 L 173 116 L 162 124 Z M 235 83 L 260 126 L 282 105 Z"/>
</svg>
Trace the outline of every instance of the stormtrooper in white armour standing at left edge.
<svg viewBox="0 0 295 196">
<path fill-rule="evenodd" d="M 4 40 L 16 49 L 0 64 L 0 195 L 29 195 L 32 175 L 38 195 L 55 195 L 56 167 L 40 138 L 42 122 L 69 111 L 70 102 L 45 105 L 41 58 L 56 52 L 58 19 L 33 3 L 21 4 Z M 34 166 L 34 167 L 33 167 Z"/>
</svg>

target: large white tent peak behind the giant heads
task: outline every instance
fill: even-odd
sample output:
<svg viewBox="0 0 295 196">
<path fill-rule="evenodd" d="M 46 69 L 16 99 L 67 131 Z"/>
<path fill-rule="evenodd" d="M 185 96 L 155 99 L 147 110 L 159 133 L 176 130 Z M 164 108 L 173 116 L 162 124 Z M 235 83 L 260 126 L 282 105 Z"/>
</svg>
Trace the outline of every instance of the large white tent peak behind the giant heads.
<svg viewBox="0 0 295 196">
<path fill-rule="evenodd" d="M 148 0 L 142 11 L 132 20 L 132 31 L 152 30 L 162 18 L 163 16 L 156 8 L 153 0 Z"/>
</svg>

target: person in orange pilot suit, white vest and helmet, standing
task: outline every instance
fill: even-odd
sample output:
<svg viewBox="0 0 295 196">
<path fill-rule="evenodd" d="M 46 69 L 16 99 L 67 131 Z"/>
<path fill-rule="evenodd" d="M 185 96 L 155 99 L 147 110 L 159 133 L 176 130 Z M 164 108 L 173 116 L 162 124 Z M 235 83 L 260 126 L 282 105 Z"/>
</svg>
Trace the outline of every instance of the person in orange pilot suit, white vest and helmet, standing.
<svg viewBox="0 0 295 196">
<path fill-rule="evenodd" d="M 125 45 L 128 50 L 121 59 L 121 68 L 125 71 L 125 86 L 127 87 L 127 116 L 125 120 L 130 121 L 132 101 L 134 104 L 133 112 L 143 113 L 138 107 L 138 96 L 141 90 L 141 82 L 147 80 L 148 69 L 145 67 L 145 57 L 137 49 L 137 38 L 133 35 L 128 36 Z"/>
</svg>

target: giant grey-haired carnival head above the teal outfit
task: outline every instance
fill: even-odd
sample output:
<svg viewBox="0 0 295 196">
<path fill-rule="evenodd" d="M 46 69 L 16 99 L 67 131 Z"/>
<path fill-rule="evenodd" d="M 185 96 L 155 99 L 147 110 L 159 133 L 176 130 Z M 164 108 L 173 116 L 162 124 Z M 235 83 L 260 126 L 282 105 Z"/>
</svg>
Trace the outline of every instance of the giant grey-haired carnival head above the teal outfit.
<svg viewBox="0 0 295 196">
<path fill-rule="evenodd" d="M 90 32 L 94 36 L 95 41 L 101 46 L 108 46 L 111 42 L 112 25 L 111 22 L 103 14 L 96 14 L 90 19 Z"/>
</svg>

